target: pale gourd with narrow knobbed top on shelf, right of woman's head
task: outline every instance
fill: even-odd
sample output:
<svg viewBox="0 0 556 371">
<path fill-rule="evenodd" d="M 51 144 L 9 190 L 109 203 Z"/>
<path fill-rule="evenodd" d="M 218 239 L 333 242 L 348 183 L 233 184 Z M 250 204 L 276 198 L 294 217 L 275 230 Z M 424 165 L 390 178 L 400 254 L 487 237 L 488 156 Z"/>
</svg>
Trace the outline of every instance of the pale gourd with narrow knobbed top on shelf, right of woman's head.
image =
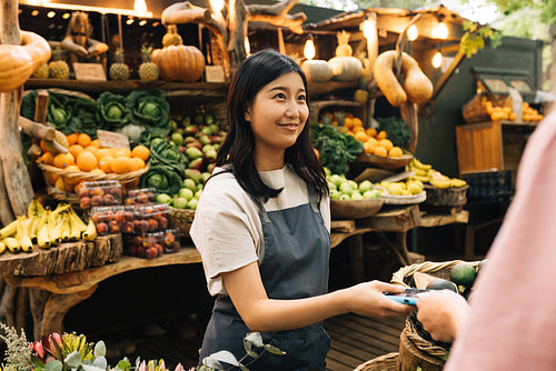
<svg viewBox="0 0 556 371">
<path fill-rule="evenodd" d="M 355 81 L 363 74 L 361 61 L 353 57 L 353 49 L 349 46 L 349 33 L 341 31 L 337 33 L 338 47 L 336 57 L 328 61 L 332 70 L 332 79 L 337 81 Z"/>
</svg>

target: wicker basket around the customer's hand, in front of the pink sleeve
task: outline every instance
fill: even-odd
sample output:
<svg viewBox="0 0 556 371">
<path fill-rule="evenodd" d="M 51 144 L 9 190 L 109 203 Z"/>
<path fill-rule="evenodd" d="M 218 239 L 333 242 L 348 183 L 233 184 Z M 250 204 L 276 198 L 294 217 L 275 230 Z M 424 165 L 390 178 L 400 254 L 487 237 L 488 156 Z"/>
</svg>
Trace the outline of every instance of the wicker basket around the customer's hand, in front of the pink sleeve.
<svg viewBox="0 0 556 371">
<path fill-rule="evenodd" d="M 399 284 L 404 288 L 415 288 L 416 285 L 414 283 L 414 274 L 417 272 L 427 273 L 433 277 L 449 280 L 450 269 L 459 263 L 466 263 L 477 269 L 477 267 L 480 264 L 480 261 L 473 261 L 473 262 L 467 262 L 464 260 L 451 260 L 446 262 L 426 261 L 423 263 L 410 264 L 403 267 L 398 271 L 394 272 L 390 282 L 394 284 Z M 420 352 L 425 353 L 427 357 L 428 355 L 433 357 L 434 359 L 438 360 L 438 362 L 445 362 L 448 353 L 447 348 L 449 348 L 449 344 L 435 342 L 428 335 L 428 333 L 426 333 L 425 330 L 420 328 L 420 323 L 417 323 L 415 315 L 414 318 L 410 317 L 406 321 L 404 333 L 407 340 L 413 345 L 415 345 L 415 348 L 417 348 Z M 401 358 L 400 361 L 403 361 Z M 401 369 L 404 369 L 404 367 L 401 367 Z"/>
</svg>

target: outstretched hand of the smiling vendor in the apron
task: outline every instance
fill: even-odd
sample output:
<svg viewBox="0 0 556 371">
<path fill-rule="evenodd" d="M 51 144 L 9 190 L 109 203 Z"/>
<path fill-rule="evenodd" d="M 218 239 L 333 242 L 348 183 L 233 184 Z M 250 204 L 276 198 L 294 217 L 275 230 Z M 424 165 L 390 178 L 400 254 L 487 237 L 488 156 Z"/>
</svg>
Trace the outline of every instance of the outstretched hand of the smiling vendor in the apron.
<svg viewBox="0 0 556 371">
<path fill-rule="evenodd" d="M 413 305 L 398 303 L 385 292 L 404 292 L 404 288 L 380 281 L 370 281 L 345 289 L 348 310 L 367 317 L 403 317 L 415 310 Z"/>
</svg>

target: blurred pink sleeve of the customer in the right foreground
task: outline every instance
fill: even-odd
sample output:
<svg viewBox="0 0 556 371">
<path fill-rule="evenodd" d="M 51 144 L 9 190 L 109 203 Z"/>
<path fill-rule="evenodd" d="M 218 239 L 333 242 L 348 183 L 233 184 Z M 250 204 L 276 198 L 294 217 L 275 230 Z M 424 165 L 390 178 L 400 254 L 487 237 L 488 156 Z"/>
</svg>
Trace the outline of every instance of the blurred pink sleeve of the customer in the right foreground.
<svg viewBox="0 0 556 371">
<path fill-rule="evenodd" d="M 487 259 L 445 370 L 556 370 L 556 111 L 529 138 Z"/>
</svg>

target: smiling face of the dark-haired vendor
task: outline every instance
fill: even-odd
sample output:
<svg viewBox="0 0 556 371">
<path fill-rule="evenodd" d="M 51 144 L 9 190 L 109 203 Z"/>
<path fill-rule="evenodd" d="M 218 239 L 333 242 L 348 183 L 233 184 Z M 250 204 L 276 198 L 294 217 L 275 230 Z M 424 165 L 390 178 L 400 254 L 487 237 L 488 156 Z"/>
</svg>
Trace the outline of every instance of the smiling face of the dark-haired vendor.
<svg viewBox="0 0 556 371">
<path fill-rule="evenodd" d="M 282 74 L 257 93 L 245 114 L 251 123 L 257 157 L 284 157 L 294 146 L 309 117 L 306 97 L 297 72 Z"/>
</svg>

